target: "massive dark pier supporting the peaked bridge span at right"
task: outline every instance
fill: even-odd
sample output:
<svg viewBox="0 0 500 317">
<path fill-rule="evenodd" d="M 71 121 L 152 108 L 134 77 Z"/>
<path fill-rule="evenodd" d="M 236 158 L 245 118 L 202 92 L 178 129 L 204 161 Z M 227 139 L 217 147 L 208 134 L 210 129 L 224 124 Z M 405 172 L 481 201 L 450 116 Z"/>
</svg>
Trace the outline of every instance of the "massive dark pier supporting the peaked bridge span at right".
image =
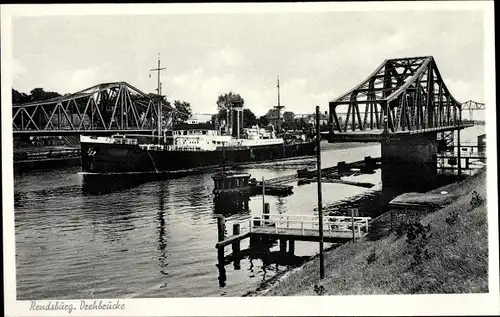
<svg viewBox="0 0 500 317">
<path fill-rule="evenodd" d="M 422 191 L 437 177 L 436 133 L 385 137 L 382 142 L 384 189 Z"/>
</svg>

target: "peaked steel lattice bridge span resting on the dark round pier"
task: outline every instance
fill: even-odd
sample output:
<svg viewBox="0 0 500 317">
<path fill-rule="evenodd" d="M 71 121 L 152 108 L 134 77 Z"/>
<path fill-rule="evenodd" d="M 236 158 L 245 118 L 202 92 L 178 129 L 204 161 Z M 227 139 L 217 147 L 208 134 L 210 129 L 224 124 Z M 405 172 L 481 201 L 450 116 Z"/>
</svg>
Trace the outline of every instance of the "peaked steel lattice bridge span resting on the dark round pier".
<svg viewBox="0 0 500 317">
<path fill-rule="evenodd" d="M 460 120 L 460 102 L 446 87 L 432 56 L 385 60 L 329 106 L 332 133 L 349 128 L 412 131 L 454 126 Z M 340 113 L 346 114 L 345 120 Z"/>
</svg>

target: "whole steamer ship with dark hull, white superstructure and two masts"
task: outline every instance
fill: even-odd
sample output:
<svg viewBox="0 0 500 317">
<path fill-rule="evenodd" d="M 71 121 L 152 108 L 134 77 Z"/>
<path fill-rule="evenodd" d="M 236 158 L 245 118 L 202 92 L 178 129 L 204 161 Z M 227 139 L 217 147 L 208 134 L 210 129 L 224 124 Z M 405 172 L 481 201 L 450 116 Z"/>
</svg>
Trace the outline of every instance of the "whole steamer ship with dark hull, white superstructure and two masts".
<svg viewBox="0 0 500 317">
<path fill-rule="evenodd" d="M 160 93 L 160 67 L 158 94 Z M 278 79 L 278 106 L 279 79 Z M 274 127 L 244 128 L 243 100 L 232 100 L 230 120 L 217 128 L 216 122 L 188 120 L 158 135 L 114 135 L 111 137 L 80 136 L 82 172 L 84 174 L 184 173 L 228 164 L 272 161 L 314 155 L 315 142 L 305 135 L 277 137 Z M 161 113 L 161 111 L 159 111 Z M 218 121 L 218 120 L 217 120 Z M 278 118 L 279 121 L 279 118 Z"/>
</svg>

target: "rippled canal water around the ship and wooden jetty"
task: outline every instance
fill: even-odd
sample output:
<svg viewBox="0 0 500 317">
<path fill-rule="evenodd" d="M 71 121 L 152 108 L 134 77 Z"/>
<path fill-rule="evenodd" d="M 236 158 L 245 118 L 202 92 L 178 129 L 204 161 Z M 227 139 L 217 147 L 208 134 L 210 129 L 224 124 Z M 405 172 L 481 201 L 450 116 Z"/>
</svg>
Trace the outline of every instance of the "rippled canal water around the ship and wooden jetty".
<svg viewBox="0 0 500 317">
<path fill-rule="evenodd" d="M 476 130 L 464 134 L 474 140 L 483 133 Z M 323 143 L 322 166 L 380 156 L 378 144 L 352 146 Z M 297 163 L 290 163 L 293 168 L 264 164 L 244 170 L 257 179 L 272 178 L 294 174 L 301 167 Z M 301 164 L 313 167 L 315 161 Z M 227 222 L 257 216 L 262 196 L 252 197 L 247 206 L 216 206 L 211 173 L 94 194 L 82 189 L 78 172 L 75 167 L 15 176 L 18 300 L 241 296 L 289 268 L 243 259 L 239 267 L 226 265 L 220 281 L 214 215 L 224 212 Z M 360 181 L 377 186 L 323 184 L 323 203 L 380 189 L 380 171 Z M 313 214 L 317 184 L 293 185 L 291 196 L 266 196 L 271 212 Z M 317 252 L 317 243 L 296 243 L 299 257 Z"/>
</svg>

